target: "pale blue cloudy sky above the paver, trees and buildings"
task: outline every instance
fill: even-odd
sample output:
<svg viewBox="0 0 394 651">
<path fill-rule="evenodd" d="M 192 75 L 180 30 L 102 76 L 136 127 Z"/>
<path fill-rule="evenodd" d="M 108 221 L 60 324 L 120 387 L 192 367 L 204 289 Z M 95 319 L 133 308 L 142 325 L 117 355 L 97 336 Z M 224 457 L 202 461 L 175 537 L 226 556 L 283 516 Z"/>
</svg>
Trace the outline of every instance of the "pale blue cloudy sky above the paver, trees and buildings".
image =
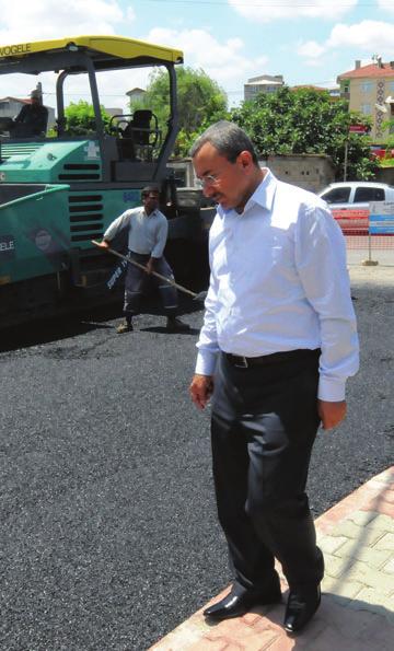
<svg viewBox="0 0 394 651">
<path fill-rule="evenodd" d="M 394 60 L 394 0 L 0 0 L 1 46 L 88 34 L 182 49 L 185 65 L 215 79 L 232 107 L 252 77 L 282 74 L 289 85 L 333 88 L 357 59 Z M 12 77 L 0 79 L 0 96 L 27 96 L 26 82 Z M 147 82 L 143 73 L 103 77 L 102 103 L 124 107 L 126 91 Z M 73 101 L 82 86 L 72 83 Z M 55 106 L 49 78 L 43 89 L 45 104 Z"/>
</svg>

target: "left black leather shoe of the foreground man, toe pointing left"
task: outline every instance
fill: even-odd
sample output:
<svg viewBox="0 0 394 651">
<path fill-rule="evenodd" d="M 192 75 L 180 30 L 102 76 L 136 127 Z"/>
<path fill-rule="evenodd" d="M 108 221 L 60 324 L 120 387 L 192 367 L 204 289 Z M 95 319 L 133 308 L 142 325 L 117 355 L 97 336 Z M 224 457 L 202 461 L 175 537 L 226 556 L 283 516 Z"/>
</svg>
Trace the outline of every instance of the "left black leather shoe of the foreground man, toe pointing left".
<svg viewBox="0 0 394 651">
<path fill-rule="evenodd" d="M 281 592 L 279 580 L 264 592 L 245 590 L 244 588 L 233 586 L 230 593 L 204 611 L 205 617 L 219 621 L 230 617 L 241 617 L 245 615 L 253 606 L 264 606 L 267 604 L 279 604 L 281 602 Z"/>
</svg>

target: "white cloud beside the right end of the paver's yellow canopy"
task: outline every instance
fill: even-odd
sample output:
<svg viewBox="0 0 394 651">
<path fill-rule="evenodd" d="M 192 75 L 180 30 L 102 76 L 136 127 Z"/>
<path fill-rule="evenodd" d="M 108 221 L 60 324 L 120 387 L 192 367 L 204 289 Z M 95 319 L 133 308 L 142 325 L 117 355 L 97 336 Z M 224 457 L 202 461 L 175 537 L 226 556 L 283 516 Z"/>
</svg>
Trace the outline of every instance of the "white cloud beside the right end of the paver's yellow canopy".
<svg viewBox="0 0 394 651">
<path fill-rule="evenodd" d="M 263 73 L 268 61 L 267 57 L 259 57 L 256 61 L 242 54 L 244 43 L 241 38 L 229 38 L 220 43 L 207 30 L 175 31 L 154 27 L 147 35 L 147 40 L 178 47 L 185 53 L 187 66 L 201 68 L 223 85 L 224 90 L 243 89 L 246 78 Z"/>
</svg>

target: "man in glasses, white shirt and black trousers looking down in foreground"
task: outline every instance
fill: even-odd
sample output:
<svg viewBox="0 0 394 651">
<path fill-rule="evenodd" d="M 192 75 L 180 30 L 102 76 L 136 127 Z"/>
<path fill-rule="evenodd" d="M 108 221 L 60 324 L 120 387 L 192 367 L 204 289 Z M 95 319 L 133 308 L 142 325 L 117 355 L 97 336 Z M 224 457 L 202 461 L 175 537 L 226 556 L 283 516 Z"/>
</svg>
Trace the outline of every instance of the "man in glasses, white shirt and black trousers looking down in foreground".
<svg viewBox="0 0 394 651">
<path fill-rule="evenodd" d="M 346 415 L 358 337 L 345 241 L 315 195 L 259 168 L 236 125 L 207 129 L 192 152 L 218 211 L 209 236 L 210 287 L 189 392 L 212 397 L 213 477 L 234 581 L 205 611 L 212 620 L 281 601 L 301 630 L 321 602 L 323 555 L 305 484 L 320 422 Z"/>
</svg>

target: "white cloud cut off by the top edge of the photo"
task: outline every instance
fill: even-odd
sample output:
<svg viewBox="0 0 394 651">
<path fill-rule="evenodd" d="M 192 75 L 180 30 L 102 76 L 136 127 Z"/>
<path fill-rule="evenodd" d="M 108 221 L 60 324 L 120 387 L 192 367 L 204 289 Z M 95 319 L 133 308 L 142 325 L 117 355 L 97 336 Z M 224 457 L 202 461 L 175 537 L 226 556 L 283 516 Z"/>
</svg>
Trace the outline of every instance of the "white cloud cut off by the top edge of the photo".
<svg viewBox="0 0 394 651">
<path fill-rule="evenodd" d="M 297 18 L 337 20 L 357 7 L 358 0 L 229 0 L 229 4 L 247 19 L 270 23 Z"/>
</svg>

